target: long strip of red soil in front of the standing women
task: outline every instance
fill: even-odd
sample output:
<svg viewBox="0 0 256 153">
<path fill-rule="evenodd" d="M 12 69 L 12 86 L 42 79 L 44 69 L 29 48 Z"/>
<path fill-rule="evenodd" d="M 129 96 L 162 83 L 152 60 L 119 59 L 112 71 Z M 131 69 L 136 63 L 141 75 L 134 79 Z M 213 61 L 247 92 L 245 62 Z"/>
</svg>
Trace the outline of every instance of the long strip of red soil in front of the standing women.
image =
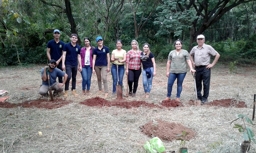
<svg viewBox="0 0 256 153">
<path fill-rule="evenodd" d="M 131 102 L 126 102 L 124 99 L 122 100 L 115 100 L 115 101 L 107 101 L 103 98 L 100 97 L 95 97 L 95 98 L 90 98 L 87 99 L 85 101 L 80 102 L 80 104 L 85 104 L 87 106 L 98 106 L 98 107 L 111 107 L 111 106 L 119 106 L 119 107 L 125 107 L 127 109 L 130 108 L 138 108 L 141 106 L 144 107 L 157 107 L 157 108 L 164 108 L 164 107 L 178 107 L 178 106 L 182 106 L 182 104 L 178 101 L 175 100 L 171 100 L 171 101 L 163 101 L 163 103 L 161 104 L 161 106 L 156 105 L 154 103 L 147 103 L 145 101 L 131 101 Z M 163 107 L 164 106 L 164 107 Z"/>
</svg>

